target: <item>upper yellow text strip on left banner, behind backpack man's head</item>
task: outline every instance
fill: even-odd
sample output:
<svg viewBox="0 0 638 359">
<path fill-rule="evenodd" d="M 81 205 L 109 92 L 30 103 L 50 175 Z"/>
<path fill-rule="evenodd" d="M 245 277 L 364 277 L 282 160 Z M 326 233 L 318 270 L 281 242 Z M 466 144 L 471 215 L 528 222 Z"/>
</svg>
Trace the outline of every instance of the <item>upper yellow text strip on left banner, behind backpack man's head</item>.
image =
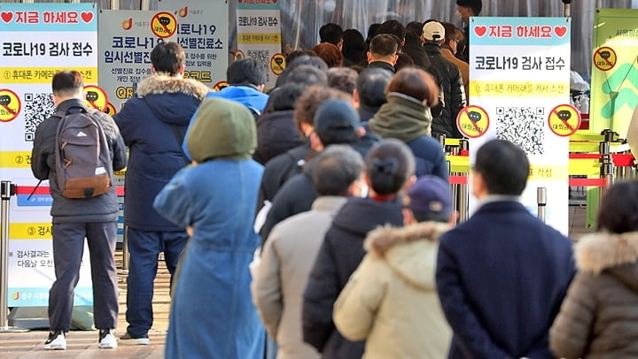
<svg viewBox="0 0 638 359">
<path fill-rule="evenodd" d="M 53 75 L 65 67 L 0 67 L 0 82 L 5 84 L 35 84 L 51 85 Z M 97 83 L 97 67 L 77 67 L 74 70 L 82 73 L 84 83 Z"/>
</svg>

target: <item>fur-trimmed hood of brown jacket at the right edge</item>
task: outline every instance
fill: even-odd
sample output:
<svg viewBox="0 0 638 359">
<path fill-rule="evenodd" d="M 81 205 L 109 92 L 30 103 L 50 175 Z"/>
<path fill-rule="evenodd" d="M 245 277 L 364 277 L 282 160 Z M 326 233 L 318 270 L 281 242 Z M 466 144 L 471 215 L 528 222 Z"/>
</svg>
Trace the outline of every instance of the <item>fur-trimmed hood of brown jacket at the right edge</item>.
<svg viewBox="0 0 638 359">
<path fill-rule="evenodd" d="M 580 271 L 605 271 L 638 293 L 638 232 L 588 234 L 574 252 Z"/>
</svg>

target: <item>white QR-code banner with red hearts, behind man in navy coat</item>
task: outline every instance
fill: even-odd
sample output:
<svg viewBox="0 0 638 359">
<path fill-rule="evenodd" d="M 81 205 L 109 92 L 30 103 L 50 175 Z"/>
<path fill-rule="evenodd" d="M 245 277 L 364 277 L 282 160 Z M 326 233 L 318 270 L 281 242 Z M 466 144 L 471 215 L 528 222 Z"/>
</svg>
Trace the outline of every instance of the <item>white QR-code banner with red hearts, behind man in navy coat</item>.
<svg viewBox="0 0 638 359">
<path fill-rule="evenodd" d="M 568 232 L 569 135 L 580 126 L 570 103 L 568 18 L 471 18 L 469 110 L 459 129 L 473 154 L 485 141 L 511 141 L 531 169 L 522 196 L 537 214 L 537 190 L 546 188 L 546 222 Z M 473 207 L 471 201 L 471 207 Z"/>
</svg>

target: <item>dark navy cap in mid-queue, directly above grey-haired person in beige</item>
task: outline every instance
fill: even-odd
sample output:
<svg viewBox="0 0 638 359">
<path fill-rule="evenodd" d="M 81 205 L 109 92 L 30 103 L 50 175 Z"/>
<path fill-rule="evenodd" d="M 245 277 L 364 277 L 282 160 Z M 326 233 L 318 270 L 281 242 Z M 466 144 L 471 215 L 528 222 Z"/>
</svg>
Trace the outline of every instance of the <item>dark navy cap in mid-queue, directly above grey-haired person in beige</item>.
<svg viewBox="0 0 638 359">
<path fill-rule="evenodd" d="M 332 98 L 323 101 L 315 111 L 314 126 L 323 146 L 328 146 L 356 141 L 361 123 L 350 103 Z"/>
</svg>

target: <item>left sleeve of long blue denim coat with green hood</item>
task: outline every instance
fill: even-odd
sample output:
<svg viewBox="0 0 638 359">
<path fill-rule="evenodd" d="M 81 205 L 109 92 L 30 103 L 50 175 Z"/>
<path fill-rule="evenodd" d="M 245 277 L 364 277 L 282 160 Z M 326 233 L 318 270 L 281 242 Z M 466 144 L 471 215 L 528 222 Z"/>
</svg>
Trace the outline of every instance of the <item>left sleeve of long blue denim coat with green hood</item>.
<svg viewBox="0 0 638 359">
<path fill-rule="evenodd" d="M 159 191 L 153 201 L 153 208 L 160 215 L 183 228 L 192 225 L 193 214 L 199 212 L 198 209 L 192 207 L 194 201 L 191 200 L 189 186 L 184 183 L 184 177 L 190 169 L 191 166 L 188 166 L 175 173 L 175 176 Z"/>
</svg>

